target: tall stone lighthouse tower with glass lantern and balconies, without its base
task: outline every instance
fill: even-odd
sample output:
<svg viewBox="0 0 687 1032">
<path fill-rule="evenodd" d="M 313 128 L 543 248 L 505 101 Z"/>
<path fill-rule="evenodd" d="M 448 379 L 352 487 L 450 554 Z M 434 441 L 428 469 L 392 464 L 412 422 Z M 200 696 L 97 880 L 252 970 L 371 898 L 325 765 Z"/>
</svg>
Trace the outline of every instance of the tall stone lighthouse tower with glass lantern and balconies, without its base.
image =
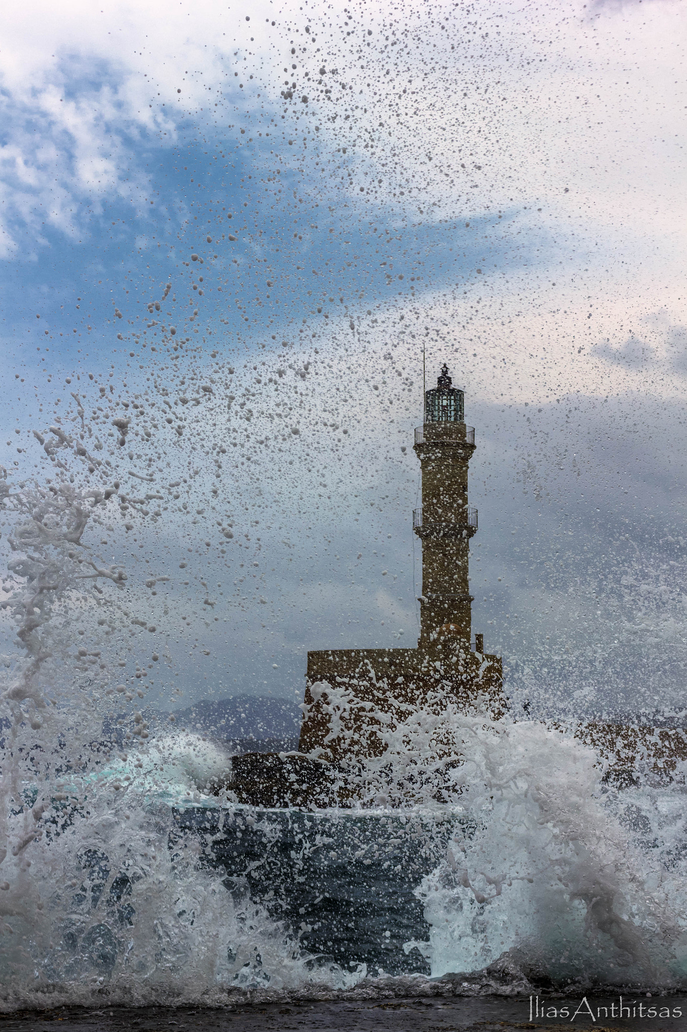
<svg viewBox="0 0 687 1032">
<path fill-rule="evenodd" d="M 437 387 L 424 393 L 424 422 L 415 430 L 422 469 L 422 508 L 413 513 L 422 541 L 420 648 L 447 638 L 471 640 L 468 555 L 477 510 L 468 505 L 468 463 L 475 428 L 466 426 L 463 410 L 463 393 L 444 365 Z"/>
</svg>

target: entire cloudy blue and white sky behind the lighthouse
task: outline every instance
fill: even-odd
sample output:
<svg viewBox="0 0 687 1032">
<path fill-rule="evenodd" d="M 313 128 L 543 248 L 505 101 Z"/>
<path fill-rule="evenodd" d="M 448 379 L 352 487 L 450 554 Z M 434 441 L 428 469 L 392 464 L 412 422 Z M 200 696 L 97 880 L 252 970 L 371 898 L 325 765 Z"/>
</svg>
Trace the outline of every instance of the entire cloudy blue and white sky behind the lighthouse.
<svg viewBox="0 0 687 1032">
<path fill-rule="evenodd" d="M 446 361 L 478 446 L 473 627 L 514 712 L 682 711 L 686 19 L 3 18 L 0 462 L 116 481 L 83 541 L 127 571 L 103 623 L 93 595 L 61 611 L 58 695 L 79 632 L 103 687 L 169 707 L 300 700 L 310 648 L 414 645 L 413 428 Z"/>
</svg>

